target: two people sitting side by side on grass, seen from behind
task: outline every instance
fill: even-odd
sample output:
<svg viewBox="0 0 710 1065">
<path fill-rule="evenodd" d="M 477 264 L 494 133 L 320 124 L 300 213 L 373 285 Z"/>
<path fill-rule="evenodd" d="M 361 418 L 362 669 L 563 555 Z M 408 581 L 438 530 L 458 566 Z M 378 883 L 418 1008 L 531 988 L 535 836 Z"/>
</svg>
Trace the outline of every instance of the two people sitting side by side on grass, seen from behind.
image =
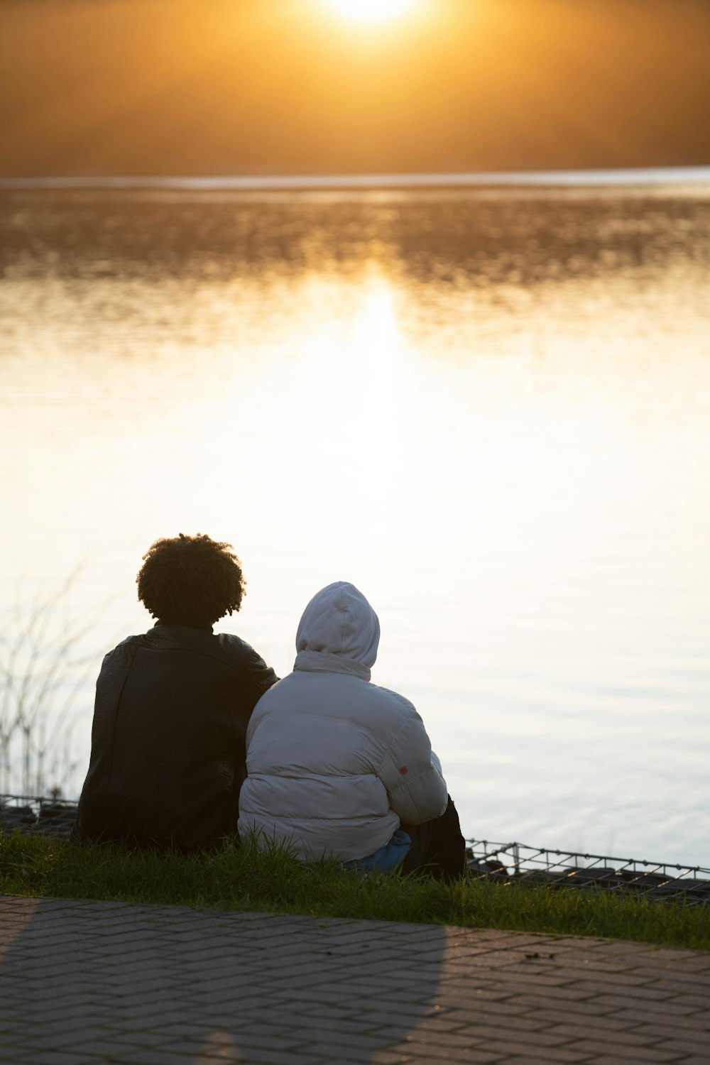
<svg viewBox="0 0 710 1065">
<path fill-rule="evenodd" d="M 80 839 L 189 851 L 238 825 L 302 859 L 462 875 L 441 765 L 412 703 L 370 683 L 380 626 L 353 585 L 313 596 L 281 681 L 240 637 L 212 632 L 244 594 L 230 544 L 159 540 L 137 585 L 156 624 L 103 660 Z"/>
</svg>

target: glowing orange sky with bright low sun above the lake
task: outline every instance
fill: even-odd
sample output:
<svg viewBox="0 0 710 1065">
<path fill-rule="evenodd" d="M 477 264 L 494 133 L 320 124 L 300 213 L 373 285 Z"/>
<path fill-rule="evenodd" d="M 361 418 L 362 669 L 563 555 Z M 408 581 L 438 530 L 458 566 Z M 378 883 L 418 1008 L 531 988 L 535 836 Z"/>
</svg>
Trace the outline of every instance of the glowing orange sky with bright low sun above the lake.
<svg viewBox="0 0 710 1065">
<path fill-rule="evenodd" d="M 354 3 L 0 0 L 0 177 L 710 163 L 707 0 Z"/>
</svg>

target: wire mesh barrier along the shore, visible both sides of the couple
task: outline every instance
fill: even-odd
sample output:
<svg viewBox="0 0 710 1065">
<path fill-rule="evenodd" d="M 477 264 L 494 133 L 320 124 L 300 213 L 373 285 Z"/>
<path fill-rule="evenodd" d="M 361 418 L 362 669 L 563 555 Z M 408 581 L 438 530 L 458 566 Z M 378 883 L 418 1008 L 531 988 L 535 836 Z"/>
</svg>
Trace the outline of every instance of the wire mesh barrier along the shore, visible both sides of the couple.
<svg viewBox="0 0 710 1065">
<path fill-rule="evenodd" d="M 0 833 L 69 836 L 77 803 L 60 798 L 0 796 Z M 710 869 L 701 866 L 613 858 L 601 854 L 493 843 L 469 839 L 466 869 L 470 880 L 532 887 L 605 888 L 647 899 L 699 905 L 710 902 Z"/>
</svg>

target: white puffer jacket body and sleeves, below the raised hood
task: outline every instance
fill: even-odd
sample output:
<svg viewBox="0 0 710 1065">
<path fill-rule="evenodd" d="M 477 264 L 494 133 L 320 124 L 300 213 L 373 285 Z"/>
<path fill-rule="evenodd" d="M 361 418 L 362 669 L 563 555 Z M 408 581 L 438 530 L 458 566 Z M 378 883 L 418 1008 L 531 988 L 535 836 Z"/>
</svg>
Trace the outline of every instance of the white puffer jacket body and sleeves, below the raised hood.
<svg viewBox="0 0 710 1065">
<path fill-rule="evenodd" d="M 385 688 L 344 673 L 299 669 L 267 692 L 253 723 L 241 835 L 276 834 L 300 857 L 334 853 L 348 861 L 386 843 L 400 819 L 426 820 L 446 805 L 446 786 L 431 771 L 431 749 L 416 710 Z M 422 785 L 419 774 L 428 777 L 419 801 L 430 805 L 422 818 L 400 772 L 410 733 L 420 739 L 419 750 L 407 744 L 410 780 L 418 777 Z M 393 748 L 396 737 L 401 742 Z M 396 813 L 383 781 L 392 801 L 402 800 Z"/>
</svg>

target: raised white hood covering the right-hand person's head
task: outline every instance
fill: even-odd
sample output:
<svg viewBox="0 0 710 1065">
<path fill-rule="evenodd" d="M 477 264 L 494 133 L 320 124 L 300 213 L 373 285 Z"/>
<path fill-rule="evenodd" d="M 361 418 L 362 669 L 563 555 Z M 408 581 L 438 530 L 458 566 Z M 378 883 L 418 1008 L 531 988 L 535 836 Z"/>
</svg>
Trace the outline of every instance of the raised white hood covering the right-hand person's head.
<svg viewBox="0 0 710 1065">
<path fill-rule="evenodd" d="M 369 681 L 380 623 L 361 591 L 336 580 L 313 596 L 296 633 L 294 669 L 353 673 Z"/>
</svg>

